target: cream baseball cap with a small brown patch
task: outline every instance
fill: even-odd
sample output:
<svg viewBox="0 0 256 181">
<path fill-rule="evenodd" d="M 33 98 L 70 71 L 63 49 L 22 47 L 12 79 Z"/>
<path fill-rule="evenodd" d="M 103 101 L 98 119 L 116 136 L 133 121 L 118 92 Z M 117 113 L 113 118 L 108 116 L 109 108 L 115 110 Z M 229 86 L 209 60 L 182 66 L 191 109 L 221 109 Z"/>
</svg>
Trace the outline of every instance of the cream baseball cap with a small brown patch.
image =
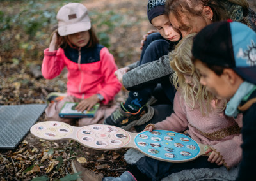
<svg viewBox="0 0 256 181">
<path fill-rule="evenodd" d="M 57 13 L 58 33 L 60 36 L 91 29 L 87 8 L 80 3 L 68 3 Z"/>
</svg>

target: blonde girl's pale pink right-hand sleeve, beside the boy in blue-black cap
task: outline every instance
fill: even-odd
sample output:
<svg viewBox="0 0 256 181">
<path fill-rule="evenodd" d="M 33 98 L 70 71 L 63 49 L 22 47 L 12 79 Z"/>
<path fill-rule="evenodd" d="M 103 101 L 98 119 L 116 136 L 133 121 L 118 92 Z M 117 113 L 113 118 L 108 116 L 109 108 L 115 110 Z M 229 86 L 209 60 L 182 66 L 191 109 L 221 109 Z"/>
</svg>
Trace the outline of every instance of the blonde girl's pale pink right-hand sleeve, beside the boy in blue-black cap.
<svg viewBox="0 0 256 181">
<path fill-rule="evenodd" d="M 243 115 L 239 114 L 235 121 L 239 127 L 242 127 Z M 236 136 L 234 136 L 232 139 L 227 138 L 226 141 L 212 145 L 210 148 L 222 157 L 224 165 L 230 169 L 239 164 L 242 159 L 242 143 L 242 135 L 239 133 L 236 134 Z"/>
</svg>

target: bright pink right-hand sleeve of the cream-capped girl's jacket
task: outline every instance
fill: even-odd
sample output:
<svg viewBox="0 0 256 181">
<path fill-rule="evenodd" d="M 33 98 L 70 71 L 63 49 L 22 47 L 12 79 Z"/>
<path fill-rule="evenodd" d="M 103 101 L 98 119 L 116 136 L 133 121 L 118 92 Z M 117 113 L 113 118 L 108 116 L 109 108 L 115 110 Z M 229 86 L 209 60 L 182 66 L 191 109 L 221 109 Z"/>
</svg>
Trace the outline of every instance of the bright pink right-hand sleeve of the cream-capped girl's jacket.
<svg viewBox="0 0 256 181">
<path fill-rule="evenodd" d="M 114 75 L 117 66 L 112 54 L 109 53 L 108 48 L 104 47 L 100 50 L 100 61 L 101 73 L 104 75 L 104 84 L 102 89 L 97 92 L 104 97 L 104 104 L 107 104 L 109 101 L 113 100 L 115 95 L 120 91 L 122 84 Z"/>
</svg>

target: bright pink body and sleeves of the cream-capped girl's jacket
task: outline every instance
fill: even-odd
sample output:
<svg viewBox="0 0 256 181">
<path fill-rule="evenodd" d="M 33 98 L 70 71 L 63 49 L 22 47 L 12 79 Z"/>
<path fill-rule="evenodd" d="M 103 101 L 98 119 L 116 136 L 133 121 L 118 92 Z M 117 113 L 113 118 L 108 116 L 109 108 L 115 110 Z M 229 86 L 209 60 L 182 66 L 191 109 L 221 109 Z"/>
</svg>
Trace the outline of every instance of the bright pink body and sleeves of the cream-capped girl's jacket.
<svg viewBox="0 0 256 181">
<path fill-rule="evenodd" d="M 44 50 L 42 64 L 44 78 L 55 78 L 60 75 L 64 67 L 68 70 L 68 95 L 85 99 L 99 93 L 104 97 L 102 102 L 107 104 L 121 89 L 122 85 L 114 75 L 117 69 L 114 57 L 106 47 L 100 50 L 100 61 L 86 64 L 70 61 L 62 48 L 54 52 L 49 52 L 49 48 Z"/>
</svg>

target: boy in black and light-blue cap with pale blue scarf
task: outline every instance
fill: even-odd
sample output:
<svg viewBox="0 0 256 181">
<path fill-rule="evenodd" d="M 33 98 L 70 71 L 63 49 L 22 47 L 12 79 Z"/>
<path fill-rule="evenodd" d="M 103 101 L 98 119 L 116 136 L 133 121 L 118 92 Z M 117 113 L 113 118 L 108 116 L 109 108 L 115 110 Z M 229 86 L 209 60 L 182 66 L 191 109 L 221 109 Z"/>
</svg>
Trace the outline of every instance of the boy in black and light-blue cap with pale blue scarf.
<svg viewBox="0 0 256 181">
<path fill-rule="evenodd" d="M 200 83 L 219 98 L 230 98 L 225 114 L 243 113 L 236 180 L 256 180 L 256 33 L 239 22 L 217 22 L 195 36 L 192 54 Z"/>
</svg>

